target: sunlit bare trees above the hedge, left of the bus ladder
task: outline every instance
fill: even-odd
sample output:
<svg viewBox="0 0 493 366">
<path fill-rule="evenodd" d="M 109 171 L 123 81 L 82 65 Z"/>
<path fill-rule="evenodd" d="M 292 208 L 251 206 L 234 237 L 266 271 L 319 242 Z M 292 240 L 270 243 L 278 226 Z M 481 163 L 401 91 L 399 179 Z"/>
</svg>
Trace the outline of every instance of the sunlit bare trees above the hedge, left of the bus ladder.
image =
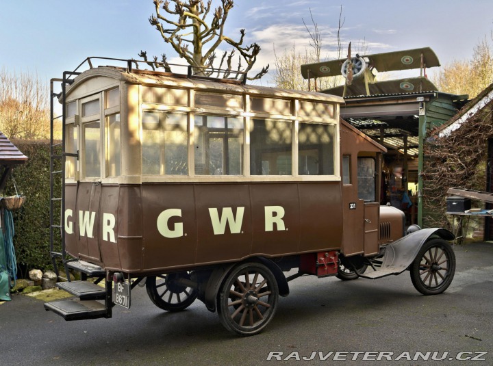
<svg viewBox="0 0 493 366">
<path fill-rule="evenodd" d="M 48 138 L 49 89 L 29 73 L 0 71 L 0 131 L 8 138 Z"/>
</svg>

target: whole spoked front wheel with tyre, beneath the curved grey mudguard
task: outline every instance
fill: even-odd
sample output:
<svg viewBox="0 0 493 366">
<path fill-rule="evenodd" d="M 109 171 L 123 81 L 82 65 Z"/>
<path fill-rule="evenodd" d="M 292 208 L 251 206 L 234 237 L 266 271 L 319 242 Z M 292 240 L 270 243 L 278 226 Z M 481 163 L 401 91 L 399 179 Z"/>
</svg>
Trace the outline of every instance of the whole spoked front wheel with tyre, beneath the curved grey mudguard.
<svg viewBox="0 0 493 366">
<path fill-rule="evenodd" d="M 431 239 L 418 252 L 411 265 L 411 280 L 423 295 L 445 291 L 455 274 L 455 254 L 447 241 Z"/>
</svg>

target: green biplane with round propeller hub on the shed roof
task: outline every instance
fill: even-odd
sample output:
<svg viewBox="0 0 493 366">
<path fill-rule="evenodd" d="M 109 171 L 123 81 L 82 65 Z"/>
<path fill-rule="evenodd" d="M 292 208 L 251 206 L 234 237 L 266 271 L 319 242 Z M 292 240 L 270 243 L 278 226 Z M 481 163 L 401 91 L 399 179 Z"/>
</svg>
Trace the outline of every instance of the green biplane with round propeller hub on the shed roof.
<svg viewBox="0 0 493 366">
<path fill-rule="evenodd" d="M 301 75 L 309 81 L 319 77 L 342 75 L 346 79 L 344 85 L 325 90 L 333 95 L 396 94 L 438 90 L 426 75 L 426 69 L 435 66 L 440 66 L 440 62 L 435 52 L 429 47 L 351 56 L 351 43 L 349 43 L 348 56 L 345 59 L 302 65 Z M 415 68 L 420 69 L 418 77 L 385 81 L 376 81 L 372 72 L 373 70 L 381 73 Z"/>
</svg>

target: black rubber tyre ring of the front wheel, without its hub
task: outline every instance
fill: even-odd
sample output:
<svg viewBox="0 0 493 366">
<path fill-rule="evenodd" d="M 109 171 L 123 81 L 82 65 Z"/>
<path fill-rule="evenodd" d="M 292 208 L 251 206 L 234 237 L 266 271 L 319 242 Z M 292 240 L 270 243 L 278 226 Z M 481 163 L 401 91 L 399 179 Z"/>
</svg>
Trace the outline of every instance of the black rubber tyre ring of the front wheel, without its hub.
<svg viewBox="0 0 493 366">
<path fill-rule="evenodd" d="M 444 275 L 444 280 L 436 286 L 428 286 L 424 283 L 420 276 L 420 265 L 423 256 L 429 252 L 429 250 L 433 248 L 440 248 L 446 255 L 446 259 L 448 261 L 448 269 Z M 452 283 L 453 277 L 455 274 L 455 253 L 453 252 L 453 248 L 448 241 L 444 239 L 431 239 L 422 246 L 418 255 L 414 259 L 411 265 L 411 280 L 414 287 L 423 295 L 437 295 L 438 293 L 442 293 L 445 291 L 448 286 Z"/>
</svg>

